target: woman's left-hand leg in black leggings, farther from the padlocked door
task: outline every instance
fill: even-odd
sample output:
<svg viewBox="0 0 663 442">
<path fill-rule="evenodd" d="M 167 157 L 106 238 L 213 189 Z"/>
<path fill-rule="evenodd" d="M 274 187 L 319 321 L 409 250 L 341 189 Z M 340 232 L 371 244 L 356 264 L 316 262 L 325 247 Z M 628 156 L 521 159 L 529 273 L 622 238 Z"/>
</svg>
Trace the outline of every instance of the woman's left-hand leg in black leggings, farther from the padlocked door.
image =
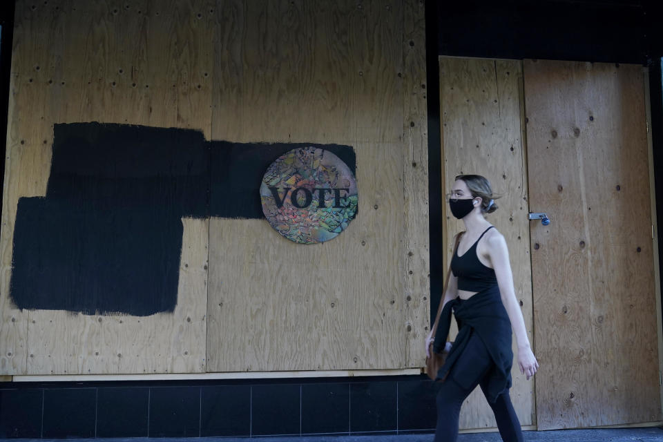
<svg viewBox="0 0 663 442">
<path fill-rule="evenodd" d="M 492 359 L 479 335 L 472 333 L 463 353 L 454 363 L 437 393 L 435 442 L 455 442 L 461 405 L 479 385 L 492 365 Z"/>
</svg>

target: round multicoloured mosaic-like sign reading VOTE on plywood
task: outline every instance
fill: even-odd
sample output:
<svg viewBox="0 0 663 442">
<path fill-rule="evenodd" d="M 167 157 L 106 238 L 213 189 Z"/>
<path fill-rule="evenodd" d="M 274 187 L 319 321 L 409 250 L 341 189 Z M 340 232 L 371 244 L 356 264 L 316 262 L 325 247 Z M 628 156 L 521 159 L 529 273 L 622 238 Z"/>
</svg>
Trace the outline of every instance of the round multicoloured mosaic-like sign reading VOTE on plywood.
<svg viewBox="0 0 663 442">
<path fill-rule="evenodd" d="M 357 213 L 357 184 L 339 157 L 316 147 L 296 148 L 262 177 L 262 211 L 271 227 L 300 244 L 336 238 Z"/>
</svg>

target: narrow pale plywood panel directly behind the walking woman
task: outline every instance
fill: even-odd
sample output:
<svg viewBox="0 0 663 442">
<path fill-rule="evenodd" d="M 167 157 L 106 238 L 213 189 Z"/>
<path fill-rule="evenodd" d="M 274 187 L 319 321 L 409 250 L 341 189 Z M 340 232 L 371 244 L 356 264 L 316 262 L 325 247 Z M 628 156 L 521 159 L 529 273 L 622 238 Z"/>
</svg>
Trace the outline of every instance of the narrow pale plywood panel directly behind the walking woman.
<svg viewBox="0 0 663 442">
<path fill-rule="evenodd" d="M 521 135 L 520 61 L 462 59 L 441 57 L 440 105 L 443 195 L 448 193 L 454 177 L 461 173 L 483 175 L 492 184 L 498 210 L 488 221 L 506 238 L 514 286 L 530 343 L 532 336 L 532 291 L 529 251 L 526 153 Z M 443 235 L 445 268 L 451 257 L 453 238 L 464 230 L 463 222 L 450 213 L 444 202 Z M 439 296 L 436 294 L 435 296 Z M 452 323 L 450 340 L 457 334 Z M 526 381 L 517 363 L 517 341 L 512 338 L 514 363 L 511 400 L 522 425 L 534 423 L 534 385 Z M 461 428 L 496 427 L 492 410 L 481 389 L 470 394 L 461 410 Z"/>
</svg>

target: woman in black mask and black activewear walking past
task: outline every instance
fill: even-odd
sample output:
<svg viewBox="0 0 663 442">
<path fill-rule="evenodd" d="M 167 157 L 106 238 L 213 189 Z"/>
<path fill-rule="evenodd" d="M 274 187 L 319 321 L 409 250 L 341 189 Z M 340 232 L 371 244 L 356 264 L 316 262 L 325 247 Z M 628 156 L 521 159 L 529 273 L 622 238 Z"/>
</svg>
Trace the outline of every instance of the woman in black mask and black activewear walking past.
<svg viewBox="0 0 663 442">
<path fill-rule="evenodd" d="M 529 380 L 539 363 L 515 296 L 506 241 L 486 220 L 486 213 L 497 210 L 490 182 L 481 175 L 459 175 L 447 197 L 465 231 L 456 237 L 452 274 L 426 338 L 427 354 L 431 342 L 434 352 L 449 352 L 436 375 L 443 382 L 437 395 L 435 442 L 456 441 L 461 405 L 477 385 L 494 412 L 502 440 L 522 441 L 509 396 L 512 329 L 521 373 Z M 446 343 L 452 310 L 459 332 L 453 343 Z"/>
</svg>

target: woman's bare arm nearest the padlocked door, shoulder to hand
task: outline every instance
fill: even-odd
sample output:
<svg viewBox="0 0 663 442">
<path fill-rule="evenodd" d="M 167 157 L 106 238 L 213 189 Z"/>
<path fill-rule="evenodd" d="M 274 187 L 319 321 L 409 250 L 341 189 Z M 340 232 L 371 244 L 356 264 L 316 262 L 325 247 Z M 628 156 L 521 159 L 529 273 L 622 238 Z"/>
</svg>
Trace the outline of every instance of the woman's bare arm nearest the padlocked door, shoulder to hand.
<svg viewBox="0 0 663 442">
<path fill-rule="evenodd" d="M 520 309 L 513 287 L 513 273 L 511 271 L 506 240 L 497 231 L 493 232 L 487 240 L 488 257 L 497 277 L 497 285 L 502 303 L 509 316 L 513 332 L 516 335 L 520 371 L 526 374 L 529 380 L 530 376 L 533 376 L 537 371 L 539 363 L 532 353 L 530 340 L 527 337 L 525 320 L 523 319 L 523 312 Z"/>
</svg>

